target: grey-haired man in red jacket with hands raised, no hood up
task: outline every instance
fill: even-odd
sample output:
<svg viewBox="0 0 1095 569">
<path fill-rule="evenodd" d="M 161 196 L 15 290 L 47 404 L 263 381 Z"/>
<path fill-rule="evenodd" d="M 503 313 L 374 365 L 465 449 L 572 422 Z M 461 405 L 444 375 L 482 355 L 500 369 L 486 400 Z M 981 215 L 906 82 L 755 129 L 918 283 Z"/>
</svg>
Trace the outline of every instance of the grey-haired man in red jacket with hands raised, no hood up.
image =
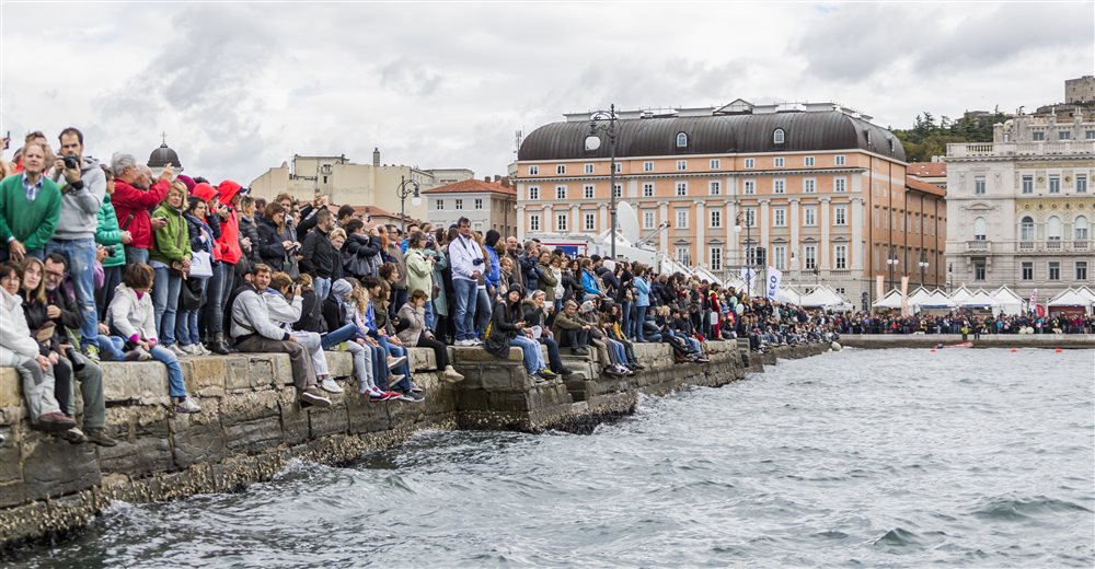
<svg viewBox="0 0 1095 569">
<path fill-rule="evenodd" d="M 132 241 L 126 245 L 126 263 L 148 263 L 152 232 L 158 229 L 157 225 L 166 223 L 163 220 L 153 221 L 148 212 L 159 206 L 171 189 L 171 178 L 174 175 L 171 164 L 163 166 L 160 177 L 149 189 L 137 186 L 140 173 L 132 154 L 114 154 L 111 170 L 114 172 L 114 194 L 111 201 L 118 216 L 118 229 L 132 235 Z"/>
</svg>

